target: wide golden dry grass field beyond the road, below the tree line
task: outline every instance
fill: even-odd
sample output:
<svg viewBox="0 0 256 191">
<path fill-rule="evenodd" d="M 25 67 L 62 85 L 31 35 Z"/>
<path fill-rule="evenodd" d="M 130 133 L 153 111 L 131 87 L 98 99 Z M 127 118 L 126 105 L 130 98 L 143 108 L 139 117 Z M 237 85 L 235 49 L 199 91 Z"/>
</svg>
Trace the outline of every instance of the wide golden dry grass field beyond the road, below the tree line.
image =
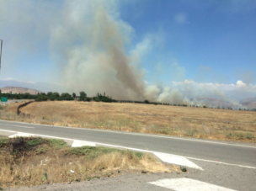
<svg viewBox="0 0 256 191">
<path fill-rule="evenodd" d="M 253 111 L 190 108 L 139 103 L 48 101 L 19 103 L 1 110 L 1 119 L 46 125 L 190 136 L 213 140 L 256 142 Z"/>
</svg>

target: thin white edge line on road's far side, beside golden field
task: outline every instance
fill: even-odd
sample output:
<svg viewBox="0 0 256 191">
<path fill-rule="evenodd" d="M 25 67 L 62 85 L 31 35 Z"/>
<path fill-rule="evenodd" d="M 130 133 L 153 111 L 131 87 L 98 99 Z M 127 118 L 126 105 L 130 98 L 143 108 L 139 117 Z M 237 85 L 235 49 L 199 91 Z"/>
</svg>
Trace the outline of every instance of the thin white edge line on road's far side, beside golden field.
<svg viewBox="0 0 256 191">
<path fill-rule="evenodd" d="M 3 119 L 0 119 L 0 121 L 10 122 L 8 120 L 3 120 Z M 29 123 L 17 122 L 17 121 L 11 121 L 11 123 L 29 124 Z M 29 125 L 42 125 L 42 124 L 29 124 Z M 133 132 L 125 132 L 125 131 L 123 132 L 123 131 L 113 131 L 113 130 L 84 129 L 84 128 L 77 128 L 77 127 L 64 127 L 64 126 L 55 126 L 55 125 L 43 125 L 43 126 L 61 127 L 61 128 L 78 129 L 78 130 L 92 130 L 92 131 L 101 131 L 101 132 L 117 133 L 117 134 L 127 134 L 127 135 L 137 135 L 137 136 L 152 136 L 152 137 L 159 137 L 159 138 L 165 138 L 165 139 L 174 139 L 174 140 L 182 140 L 182 141 L 196 141 L 196 142 L 204 142 L 204 143 L 226 145 L 226 146 L 242 146 L 242 147 L 248 147 L 248 148 L 256 149 L 256 146 L 245 146 L 245 145 L 238 145 L 238 144 L 225 143 L 225 142 L 216 142 L 216 141 L 204 141 L 204 140 L 196 140 L 196 139 L 183 138 L 183 137 L 173 137 L 173 136 L 167 136 L 167 135 L 149 135 L 149 134 L 133 133 Z"/>
</svg>

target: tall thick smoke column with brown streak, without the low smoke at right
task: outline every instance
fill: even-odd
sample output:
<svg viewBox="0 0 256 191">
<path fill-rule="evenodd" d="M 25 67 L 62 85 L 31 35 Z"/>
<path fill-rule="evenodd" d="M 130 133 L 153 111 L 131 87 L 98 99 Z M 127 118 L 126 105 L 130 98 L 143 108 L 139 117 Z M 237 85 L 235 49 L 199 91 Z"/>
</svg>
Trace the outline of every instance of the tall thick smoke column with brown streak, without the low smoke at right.
<svg viewBox="0 0 256 191">
<path fill-rule="evenodd" d="M 142 99 L 143 76 L 125 53 L 132 28 L 113 12 L 114 6 L 109 1 L 67 1 L 52 29 L 51 52 L 59 56 L 62 82 L 70 91 Z"/>
</svg>

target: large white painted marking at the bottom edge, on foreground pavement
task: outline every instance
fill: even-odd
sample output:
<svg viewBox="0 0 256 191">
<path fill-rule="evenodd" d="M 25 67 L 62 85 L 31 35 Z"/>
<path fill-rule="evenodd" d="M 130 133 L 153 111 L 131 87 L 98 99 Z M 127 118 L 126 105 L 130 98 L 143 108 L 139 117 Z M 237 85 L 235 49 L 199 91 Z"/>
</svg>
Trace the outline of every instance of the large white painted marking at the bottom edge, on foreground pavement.
<svg viewBox="0 0 256 191">
<path fill-rule="evenodd" d="M 190 178 L 161 179 L 156 182 L 151 182 L 151 184 L 175 191 L 236 191 L 234 189 L 224 188 Z"/>
</svg>

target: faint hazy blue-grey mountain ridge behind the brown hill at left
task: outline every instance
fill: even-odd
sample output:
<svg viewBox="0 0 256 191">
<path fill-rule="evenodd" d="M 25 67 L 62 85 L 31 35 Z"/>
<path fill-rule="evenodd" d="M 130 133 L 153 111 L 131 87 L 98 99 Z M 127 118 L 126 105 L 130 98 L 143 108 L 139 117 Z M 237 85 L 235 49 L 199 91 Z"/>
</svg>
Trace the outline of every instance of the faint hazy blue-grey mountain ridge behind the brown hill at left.
<svg viewBox="0 0 256 191">
<path fill-rule="evenodd" d="M 47 92 L 65 92 L 65 88 L 52 83 L 45 82 L 19 82 L 15 80 L 0 80 L 0 88 L 4 87 L 20 87 L 35 89 L 36 91 L 47 93 Z"/>
</svg>

